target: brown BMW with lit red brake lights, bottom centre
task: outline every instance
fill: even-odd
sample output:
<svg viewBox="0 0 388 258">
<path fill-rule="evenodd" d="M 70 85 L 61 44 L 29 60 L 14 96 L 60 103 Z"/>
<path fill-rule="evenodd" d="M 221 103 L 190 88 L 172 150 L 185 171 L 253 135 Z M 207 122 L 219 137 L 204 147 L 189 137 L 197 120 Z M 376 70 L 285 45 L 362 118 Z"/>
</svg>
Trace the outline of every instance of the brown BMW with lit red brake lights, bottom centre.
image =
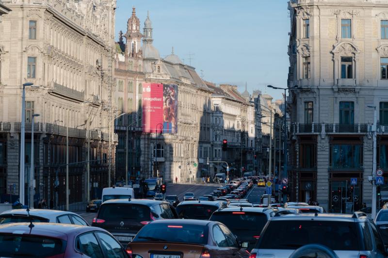
<svg viewBox="0 0 388 258">
<path fill-rule="evenodd" d="M 248 258 L 224 225 L 208 220 L 160 220 L 143 227 L 127 245 L 135 258 Z"/>
</svg>

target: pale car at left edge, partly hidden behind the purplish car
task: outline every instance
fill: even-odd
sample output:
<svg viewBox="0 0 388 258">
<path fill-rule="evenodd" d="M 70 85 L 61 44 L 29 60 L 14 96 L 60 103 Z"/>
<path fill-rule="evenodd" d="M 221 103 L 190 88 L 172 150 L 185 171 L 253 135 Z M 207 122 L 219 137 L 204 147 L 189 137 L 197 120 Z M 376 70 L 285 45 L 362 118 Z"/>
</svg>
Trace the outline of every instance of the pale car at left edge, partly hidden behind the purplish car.
<svg viewBox="0 0 388 258">
<path fill-rule="evenodd" d="M 78 214 L 62 210 L 6 210 L 0 214 L 0 224 L 21 223 L 21 222 L 46 222 L 46 223 L 63 223 L 89 226 L 89 224 Z"/>
</svg>

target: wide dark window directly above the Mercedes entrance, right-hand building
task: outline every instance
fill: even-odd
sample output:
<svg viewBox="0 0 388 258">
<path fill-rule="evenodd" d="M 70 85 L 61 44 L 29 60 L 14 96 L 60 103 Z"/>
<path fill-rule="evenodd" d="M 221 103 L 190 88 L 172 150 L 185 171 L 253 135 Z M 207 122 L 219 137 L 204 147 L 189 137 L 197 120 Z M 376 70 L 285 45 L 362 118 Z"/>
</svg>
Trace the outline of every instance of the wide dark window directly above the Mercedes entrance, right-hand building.
<svg viewBox="0 0 388 258">
<path fill-rule="evenodd" d="M 355 169 L 362 163 L 362 146 L 357 144 L 333 144 L 331 145 L 331 168 Z"/>
</svg>

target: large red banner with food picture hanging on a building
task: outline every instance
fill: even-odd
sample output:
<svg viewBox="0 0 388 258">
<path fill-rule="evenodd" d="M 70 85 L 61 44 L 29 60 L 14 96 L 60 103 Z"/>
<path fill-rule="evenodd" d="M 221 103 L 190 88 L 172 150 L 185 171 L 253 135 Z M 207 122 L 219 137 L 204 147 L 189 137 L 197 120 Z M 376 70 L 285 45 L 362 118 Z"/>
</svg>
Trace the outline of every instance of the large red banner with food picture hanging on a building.
<svg viewBox="0 0 388 258">
<path fill-rule="evenodd" d="M 177 133 L 178 85 L 143 83 L 143 132 Z"/>
</svg>

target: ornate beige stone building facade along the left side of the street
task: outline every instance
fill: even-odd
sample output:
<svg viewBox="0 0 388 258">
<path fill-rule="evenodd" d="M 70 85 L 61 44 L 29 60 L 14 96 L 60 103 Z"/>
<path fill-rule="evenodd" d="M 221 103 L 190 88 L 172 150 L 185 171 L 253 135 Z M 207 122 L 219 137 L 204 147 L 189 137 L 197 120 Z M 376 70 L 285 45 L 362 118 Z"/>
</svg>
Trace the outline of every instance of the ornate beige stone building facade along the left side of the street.
<svg viewBox="0 0 388 258">
<path fill-rule="evenodd" d="M 34 123 L 35 200 L 55 198 L 59 205 L 65 203 L 66 127 L 69 162 L 87 161 L 88 153 L 96 160 L 90 166 L 88 162 L 70 166 L 70 203 L 92 198 L 108 185 L 108 120 L 113 112 L 110 81 L 114 73 L 114 49 L 110 47 L 114 44 L 116 1 L 3 3 L 13 11 L 0 23 L 0 192 L 18 195 L 21 85 L 32 82 L 34 87 L 26 88 L 23 119 L 27 171 L 32 114 L 40 114 Z M 86 190 L 87 170 L 90 193 Z"/>
</svg>

